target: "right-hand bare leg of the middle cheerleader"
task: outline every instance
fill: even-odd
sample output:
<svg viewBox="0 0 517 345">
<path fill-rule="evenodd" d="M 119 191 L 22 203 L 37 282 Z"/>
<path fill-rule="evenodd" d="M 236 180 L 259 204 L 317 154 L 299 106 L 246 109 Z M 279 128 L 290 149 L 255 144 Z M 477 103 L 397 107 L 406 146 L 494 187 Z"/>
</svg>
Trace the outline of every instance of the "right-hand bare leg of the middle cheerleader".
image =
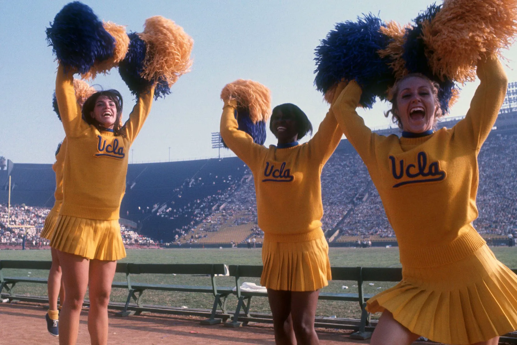
<svg viewBox="0 0 517 345">
<path fill-rule="evenodd" d="M 291 292 L 291 315 L 298 345 L 319 345 L 314 318 L 320 290 Z"/>
</svg>

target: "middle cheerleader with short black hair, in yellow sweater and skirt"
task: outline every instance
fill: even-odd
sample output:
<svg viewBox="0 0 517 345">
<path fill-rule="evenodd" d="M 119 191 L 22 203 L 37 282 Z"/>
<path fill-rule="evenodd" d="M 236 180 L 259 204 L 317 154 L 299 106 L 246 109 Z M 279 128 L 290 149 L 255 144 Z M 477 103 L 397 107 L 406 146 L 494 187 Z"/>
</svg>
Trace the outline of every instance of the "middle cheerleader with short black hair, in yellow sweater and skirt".
<svg viewBox="0 0 517 345">
<path fill-rule="evenodd" d="M 339 93 L 337 93 L 339 94 Z M 261 284 L 267 288 L 277 344 L 317 344 L 314 317 L 320 289 L 331 279 L 321 229 L 321 171 L 341 140 L 329 111 L 314 137 L 298 144 L 312 125 L 294 104 L 273 109 L 269 148 L 238 130 L 235 99 L 224 102 L 221 137 L 253 173 L 258 226 L 264 231 Z"/>
</svg>

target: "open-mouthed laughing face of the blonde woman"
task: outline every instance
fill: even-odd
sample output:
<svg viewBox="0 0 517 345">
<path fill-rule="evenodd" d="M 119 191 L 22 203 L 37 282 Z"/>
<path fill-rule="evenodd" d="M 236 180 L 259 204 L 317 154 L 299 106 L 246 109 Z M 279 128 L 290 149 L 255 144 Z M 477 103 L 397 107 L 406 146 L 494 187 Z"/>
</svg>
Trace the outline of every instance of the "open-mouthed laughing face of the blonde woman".
<svg viewBox="0 0 517 345">
<path fill-rule="evenodd" d="M 422 133 L 433 128 L 439 105 L 428 80 L 409 77 L 399 85 L 397 94 L 397 115 L 402 130 Z"/>
</svg>

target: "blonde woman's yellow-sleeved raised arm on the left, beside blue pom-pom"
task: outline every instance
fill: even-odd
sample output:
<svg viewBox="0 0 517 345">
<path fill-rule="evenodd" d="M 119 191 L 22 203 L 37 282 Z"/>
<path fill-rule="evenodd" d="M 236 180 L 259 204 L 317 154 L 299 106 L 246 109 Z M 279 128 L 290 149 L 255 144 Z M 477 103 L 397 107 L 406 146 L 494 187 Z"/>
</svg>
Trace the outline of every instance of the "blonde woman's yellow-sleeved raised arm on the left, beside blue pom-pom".
<svg viewBox="0 0 517 345">
<path fill-rule="evenodd" d="M 332 111 L 346 139 L 366 162 L 375 158 L 375 140 L 378 136 L 372 133 L 356 112 L 361 94 L 361 87 L 355 81 L 349 82 L 333 103 Z"/>
</svg>

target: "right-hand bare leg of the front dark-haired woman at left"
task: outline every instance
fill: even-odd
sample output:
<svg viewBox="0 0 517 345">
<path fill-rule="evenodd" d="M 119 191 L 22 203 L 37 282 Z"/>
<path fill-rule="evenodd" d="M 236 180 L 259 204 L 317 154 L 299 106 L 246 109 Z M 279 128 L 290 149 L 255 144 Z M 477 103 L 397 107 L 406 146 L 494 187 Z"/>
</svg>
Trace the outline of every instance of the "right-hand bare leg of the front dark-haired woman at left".
<svg viewBox="0 0 517 345">
<path fill-rule="evenodd" d="M 108 343 L 108 303 L 116 261 L 90 260 L 88 332 L 92 345 Z"/>
</svg>

